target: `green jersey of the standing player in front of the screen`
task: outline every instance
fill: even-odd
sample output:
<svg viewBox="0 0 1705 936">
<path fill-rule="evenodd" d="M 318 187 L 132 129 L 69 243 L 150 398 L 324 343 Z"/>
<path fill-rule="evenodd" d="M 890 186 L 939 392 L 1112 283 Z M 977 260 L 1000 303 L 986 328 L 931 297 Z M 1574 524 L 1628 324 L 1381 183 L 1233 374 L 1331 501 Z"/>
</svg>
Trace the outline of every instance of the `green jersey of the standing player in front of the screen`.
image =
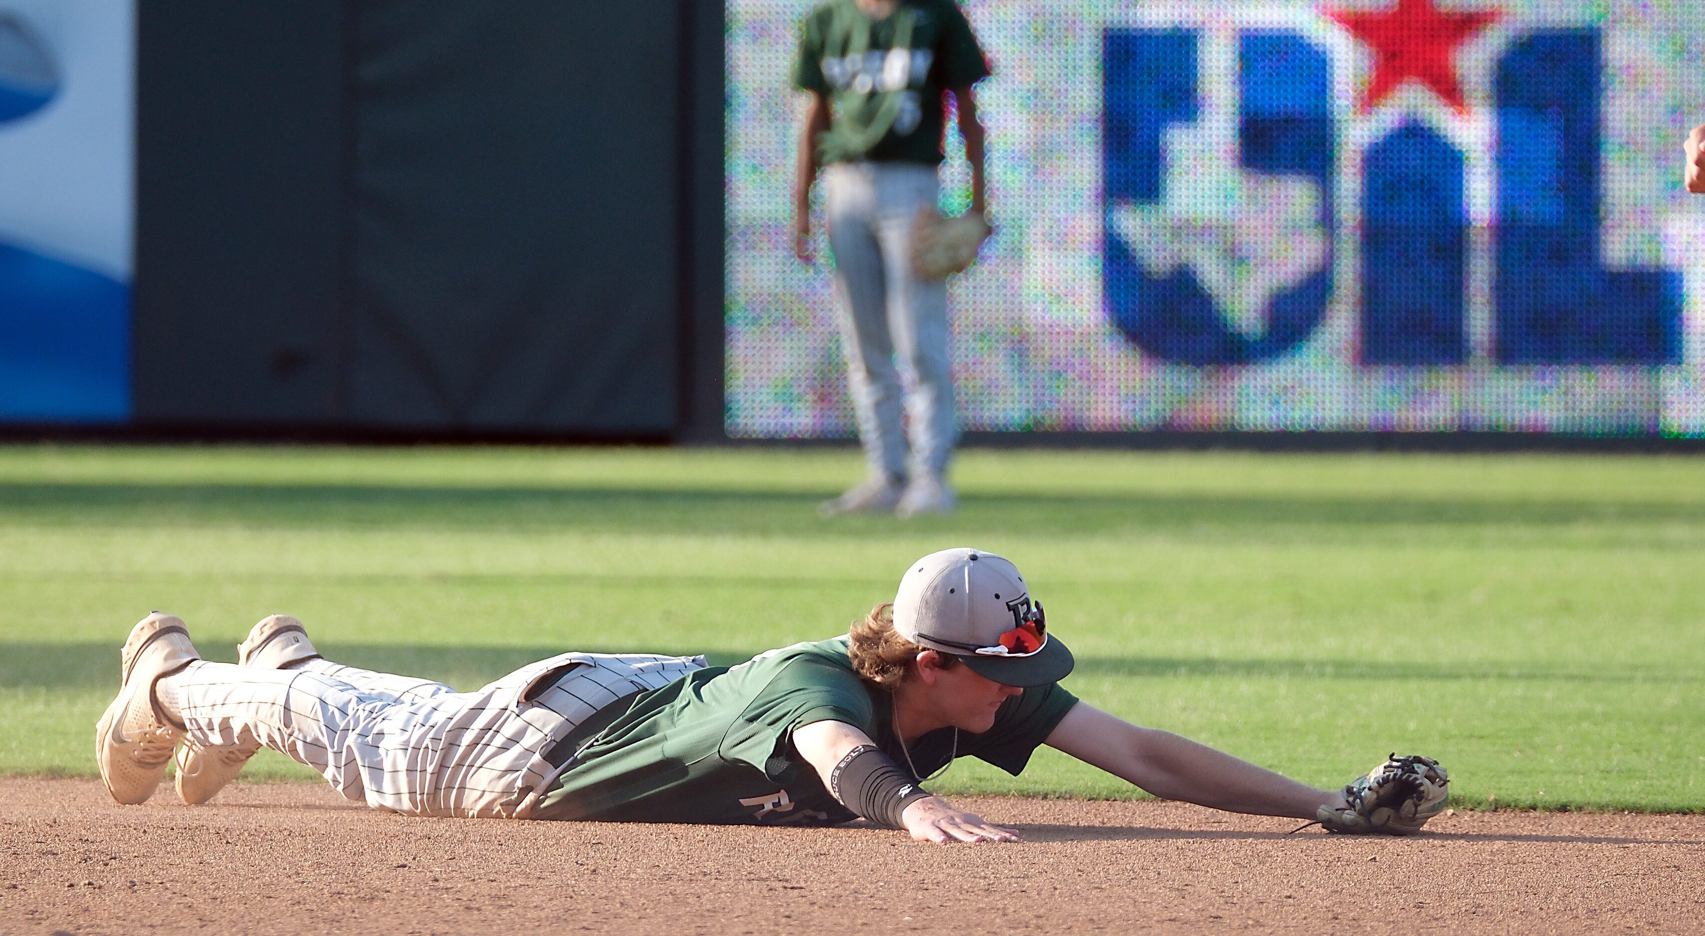
<svg viewBox="0 0 1705 936">
<path fill-rule="evenodd" d="M 817 140 L 824 164 L 875 160 L 938 165 L 941 92 L 989 77 L 970 22 L 953 0 L 900 0 L 871 19 L 856 0 L 824 0 L 805 17 L 793 84 L 829 97 Z"/>
</svg>

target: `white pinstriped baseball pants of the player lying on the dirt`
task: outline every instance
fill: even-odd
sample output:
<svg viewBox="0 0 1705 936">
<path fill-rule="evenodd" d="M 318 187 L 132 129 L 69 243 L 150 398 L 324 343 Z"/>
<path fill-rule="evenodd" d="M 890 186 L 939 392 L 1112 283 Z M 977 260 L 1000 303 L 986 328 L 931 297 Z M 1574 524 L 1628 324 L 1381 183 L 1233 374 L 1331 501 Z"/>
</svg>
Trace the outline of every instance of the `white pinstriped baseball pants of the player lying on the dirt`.
<svg viewBox="0 0 1705 936">
<path fill-rule="evenodd" d="M 563 653 L 457 692 L 326 660 L 290 670 L 196 662 L 174 684 L 199 745 L 269 747 L 380 810 L 523 817 L 554 779 L 552 743 L 609 702 L 701 667 L 704 656 Z"/>
</svg>

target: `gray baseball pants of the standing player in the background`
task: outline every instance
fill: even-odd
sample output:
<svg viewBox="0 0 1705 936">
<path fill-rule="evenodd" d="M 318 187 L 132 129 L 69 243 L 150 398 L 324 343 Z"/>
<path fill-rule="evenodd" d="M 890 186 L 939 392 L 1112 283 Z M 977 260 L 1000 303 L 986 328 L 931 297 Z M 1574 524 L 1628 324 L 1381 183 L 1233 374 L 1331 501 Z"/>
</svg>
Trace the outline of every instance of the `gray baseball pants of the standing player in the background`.
<svg viewBox="0 0 1705 936">
<path fill-rule="evenodd" d="M 941 182 L 934 167 L 916 162 L 834 164 L 824 179 L 841 344 L 864 457 L 871 474 L 939 474 L 958 440 L 948 288 L 912 271 L 912 223 L 919 208 L 936 206 Z M 904 397 L 902 373 L 912 385 Z"/>
</svg>

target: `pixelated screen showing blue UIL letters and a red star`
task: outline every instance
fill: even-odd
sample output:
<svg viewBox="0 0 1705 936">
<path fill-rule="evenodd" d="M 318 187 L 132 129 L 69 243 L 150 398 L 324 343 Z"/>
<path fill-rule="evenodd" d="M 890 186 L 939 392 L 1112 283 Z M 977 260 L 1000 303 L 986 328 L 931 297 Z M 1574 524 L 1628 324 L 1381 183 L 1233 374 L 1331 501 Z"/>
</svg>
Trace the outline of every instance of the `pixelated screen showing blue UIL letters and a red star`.
<svg viewBox="0 0 1705 936">
<path fill-rule="evenodd" d="M 808 9 L 728 0 L 731 436 L 856 433 L 830 261 L 793 256 Z M 962 428 L 1705 435 L 1695 0 L 963 10 L 996 235 L 950 283 Z"/>
</svg>

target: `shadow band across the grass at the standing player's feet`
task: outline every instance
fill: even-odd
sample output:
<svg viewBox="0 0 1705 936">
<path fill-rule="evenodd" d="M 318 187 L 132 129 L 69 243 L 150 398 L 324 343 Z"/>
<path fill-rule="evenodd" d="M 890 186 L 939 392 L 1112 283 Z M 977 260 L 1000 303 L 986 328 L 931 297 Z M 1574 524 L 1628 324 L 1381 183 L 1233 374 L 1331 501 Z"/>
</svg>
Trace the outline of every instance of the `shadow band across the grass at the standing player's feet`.
<svg viewBox="0 0 1705 936">
<path fill-rule="evenodd" d="M 822 494 L 829 494 L 824 491 Z M 820 494 L 776 491 L 650 491 L 633 488 L 389 488 L 360 484 L 0 484 L 0 515 L 56 523 L 249 522 L 275 527 L 448 525 L 624 532 L 798 532 L 892 535 L 888 517 L 815 518 Z M 968 494 L 951 517 L 909 525 L 928 532 L 1096 532 L 1190 527 L 1557 527 L 1582 522 L 1705 523 L 1705 506 L 1543 500 L 1362 496 L 987 496 Z"/>
</svg>

